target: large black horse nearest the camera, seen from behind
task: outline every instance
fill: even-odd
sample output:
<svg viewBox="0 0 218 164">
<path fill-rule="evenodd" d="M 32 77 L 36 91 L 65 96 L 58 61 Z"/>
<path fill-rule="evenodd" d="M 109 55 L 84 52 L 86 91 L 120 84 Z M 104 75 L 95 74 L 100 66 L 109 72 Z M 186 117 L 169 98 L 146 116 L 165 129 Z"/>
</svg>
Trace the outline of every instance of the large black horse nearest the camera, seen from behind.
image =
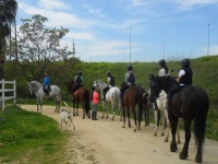
<svg viewBox="0 0 218 164">
<path fill-rule="evenodd" d="M 169 77 L 154 77 L 150 75 L 150 91 L 153 95 L 157 96 L 160 90 L 168 93 L 169 89 L 173 87 L 174 78 Z M 191 122 L 194 119 L 194 134 L 197 152 L 195 162 L 202 163 L 203 161 L 203 143 L 205 139 L 206 119 L 209 108 L 209 97 L 204 89 L 201 86 L 187 85 L 184 86 L 179 93 L 174 94 L 168 109 L 169 121 L 171 125 L 172 141 L 170 143 L 171 152 L 178 150 L 175 142 L 175 131 L 179 118 L 184 120 L 185 142 L 180 153 L 180 160 L 185 160 L 189 156 L 189 144 L 191 139 Z"/>
</svg>

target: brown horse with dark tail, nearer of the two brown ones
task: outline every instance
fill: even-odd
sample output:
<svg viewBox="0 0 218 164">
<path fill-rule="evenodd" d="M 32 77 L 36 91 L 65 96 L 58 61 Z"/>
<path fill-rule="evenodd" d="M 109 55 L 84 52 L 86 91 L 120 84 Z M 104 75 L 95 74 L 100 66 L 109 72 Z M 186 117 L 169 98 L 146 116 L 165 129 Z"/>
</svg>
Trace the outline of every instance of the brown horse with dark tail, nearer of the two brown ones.
<svg viewBox="0 0 218 164">
<path fill-rule="evenodd" d="M 121 89 L 126 85 L 125 82 L 121 83 Z M 137 105 L 138 108 L 138 116 L 136 116 L 135 106 Z M 122 103 L 122 113 L 123 113 L 123 126 L 125 128 L 125 107 L 128 110 L 128 118 L 129 118 L 129 127 L 131 127 L 130 121 L 130 108 L 133 114 L 135 127 L 133 131 L 141 130 L 141 121 L 142 121 L 142 114 L 143 114 L 143 90 L 141 86 L 131 85 L 123 95 L 123 103 Z M 137 117 L 137 118 L 136 118 Z"/>
</svg>

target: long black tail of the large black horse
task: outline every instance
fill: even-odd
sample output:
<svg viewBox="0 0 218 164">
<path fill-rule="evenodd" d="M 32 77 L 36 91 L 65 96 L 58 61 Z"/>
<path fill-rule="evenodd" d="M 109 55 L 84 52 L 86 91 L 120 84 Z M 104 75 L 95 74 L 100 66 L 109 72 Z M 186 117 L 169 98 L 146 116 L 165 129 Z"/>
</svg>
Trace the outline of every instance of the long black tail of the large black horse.
<svg viewBox="0 0 218 164">
<path fill-rule="evenodd" d="M 209 98 L 206 92 L 196 96 L 196 113 L 194 118 L 195 144 L 202 147 L 205 139 L 206 118 L 209 108 Z"/>
</svg>

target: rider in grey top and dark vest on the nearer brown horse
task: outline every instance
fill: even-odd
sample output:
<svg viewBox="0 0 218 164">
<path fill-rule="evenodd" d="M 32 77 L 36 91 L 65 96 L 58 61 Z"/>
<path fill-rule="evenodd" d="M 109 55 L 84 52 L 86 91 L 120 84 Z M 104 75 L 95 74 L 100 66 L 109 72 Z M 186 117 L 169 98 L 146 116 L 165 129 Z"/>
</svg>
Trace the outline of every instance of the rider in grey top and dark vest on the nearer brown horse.
<svg viewBox="0 0 218 164">
<path fill-rule="evenodd" d="M 121 104 L 123 103 L 123 94 L 131 86 L 135 85 L 135 73 L 132 71 L 133 67 L 131 65 L 128 66 L 128 72 L 125 73 L 125 84 L 120 89 L 120 99 Z"/>
</svg>

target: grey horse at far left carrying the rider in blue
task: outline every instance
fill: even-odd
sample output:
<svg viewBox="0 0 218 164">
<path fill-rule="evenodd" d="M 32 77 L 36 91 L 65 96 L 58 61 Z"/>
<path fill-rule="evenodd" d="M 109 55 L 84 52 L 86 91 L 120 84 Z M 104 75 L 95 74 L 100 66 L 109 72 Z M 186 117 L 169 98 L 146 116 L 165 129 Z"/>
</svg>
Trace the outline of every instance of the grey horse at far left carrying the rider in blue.
<svg viewBox="0 0 218 164">
<path fill-rule="evenodd" d="M 35 93 L 37 98 L 37 113 L 43 113 L 43 98 L 53 97 L 56 102 L 56 113 L 60 112 L 61 107 L 61 90 L 57 85 L 50 85 L 51 91 L 47 95 L 44 91 L 43 84 L 37 81 L 27 82 L 31 94 Z M 40 105 L 40 110 L 39 110 Z"/>
</svg>

